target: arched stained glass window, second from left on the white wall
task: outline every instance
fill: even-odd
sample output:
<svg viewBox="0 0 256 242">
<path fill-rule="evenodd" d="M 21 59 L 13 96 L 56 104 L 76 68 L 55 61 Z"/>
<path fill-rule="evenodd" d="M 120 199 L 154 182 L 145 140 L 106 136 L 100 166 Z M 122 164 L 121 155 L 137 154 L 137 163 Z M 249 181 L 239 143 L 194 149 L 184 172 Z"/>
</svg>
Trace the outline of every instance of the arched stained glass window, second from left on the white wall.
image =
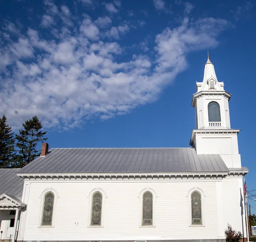
<svg viewBox="0 0 256 242">
<path fill-rule="evenodd" d="M 92 212 L 90 225 L 101 225 L 101 213 L 102 213 L 102 194 L 96 191 L 92 197 Z"/>
</svg>

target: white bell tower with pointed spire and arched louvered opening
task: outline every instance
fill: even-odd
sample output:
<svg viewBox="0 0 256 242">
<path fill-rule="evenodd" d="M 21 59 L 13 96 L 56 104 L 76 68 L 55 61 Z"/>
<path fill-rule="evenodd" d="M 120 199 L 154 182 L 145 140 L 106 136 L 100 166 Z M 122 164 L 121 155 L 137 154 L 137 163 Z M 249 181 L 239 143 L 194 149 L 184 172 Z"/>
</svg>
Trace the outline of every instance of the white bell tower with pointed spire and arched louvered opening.
<svg viewBox="0 0 256 242">
<path fill-rule="evenodd" d="M 196 87 L 192 98 L 196 129 L 192 131 L 190 145 L 197 154 L 220 154 L 228 168 L 241 168 L 237 141 L 240 130 L 230 126 L 231 94 L 224 90 L 223 82 L 218 82 L 208 51 L 204 79 Z"/>
</svg>

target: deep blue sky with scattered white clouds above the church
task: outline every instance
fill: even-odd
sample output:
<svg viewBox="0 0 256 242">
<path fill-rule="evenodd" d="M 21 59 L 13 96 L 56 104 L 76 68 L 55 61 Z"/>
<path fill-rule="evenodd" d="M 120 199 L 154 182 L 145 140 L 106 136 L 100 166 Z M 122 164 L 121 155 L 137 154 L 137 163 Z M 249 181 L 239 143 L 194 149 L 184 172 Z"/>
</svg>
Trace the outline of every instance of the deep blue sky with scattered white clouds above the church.
<svg viewBox="0 0 256 242">
<path fill-rule="evenodd" d="M 0 114 L 50 147 L 189 147 L 207 49 L 255 168 L 255 0 L 2 0 Z M 256 201 L 251 202 L 256 213 Z"/>
</svg>

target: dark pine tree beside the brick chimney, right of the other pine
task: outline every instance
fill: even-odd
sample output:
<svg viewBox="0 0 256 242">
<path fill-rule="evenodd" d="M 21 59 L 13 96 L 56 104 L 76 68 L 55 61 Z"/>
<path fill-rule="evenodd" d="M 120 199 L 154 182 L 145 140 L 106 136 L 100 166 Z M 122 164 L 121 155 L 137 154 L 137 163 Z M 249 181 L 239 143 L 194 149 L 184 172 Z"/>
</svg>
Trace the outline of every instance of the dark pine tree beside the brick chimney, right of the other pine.
<svg viewBox="0 0 256 242">
<path fill-rule="evenodd" d="M 40 150 L 36 149 L 38 142 L 44 142 L 47 138 L 44 135 L 47 132 L 42 132 L 42 124 L 38 117 L 34 116 L 30 120 L 25 120 L 22 124 L 23 130 L 19 130 L 19 135 L 16 134 L 17 147 L 20 148 L 19 156 L 15 167 L 21 168 L 31 162 L 40 155 Z"/>
</svg>

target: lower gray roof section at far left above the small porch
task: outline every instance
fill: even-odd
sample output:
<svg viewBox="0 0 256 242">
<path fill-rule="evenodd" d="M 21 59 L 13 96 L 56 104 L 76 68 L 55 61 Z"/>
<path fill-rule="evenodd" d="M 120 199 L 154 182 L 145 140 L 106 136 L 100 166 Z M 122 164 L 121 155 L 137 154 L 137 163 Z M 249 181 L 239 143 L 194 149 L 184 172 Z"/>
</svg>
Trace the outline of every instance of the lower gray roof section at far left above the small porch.
<svg viewBox="0 0 256 242">
<path fill-rule="evenodd" d="M 21 198 L 23 178 L 16 175 L 21 169 L 0 169 L 0 195 L 6 194 Z"/>
</svg>

